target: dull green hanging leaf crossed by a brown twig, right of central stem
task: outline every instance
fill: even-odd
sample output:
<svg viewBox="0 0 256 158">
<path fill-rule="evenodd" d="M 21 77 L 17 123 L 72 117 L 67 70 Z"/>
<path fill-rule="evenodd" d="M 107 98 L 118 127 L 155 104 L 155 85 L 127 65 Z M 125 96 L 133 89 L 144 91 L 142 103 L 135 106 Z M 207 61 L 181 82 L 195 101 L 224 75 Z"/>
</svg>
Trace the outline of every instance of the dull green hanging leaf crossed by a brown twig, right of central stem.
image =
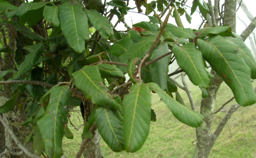
<svg viewBox="0 0 256 158">
<path fill-rule="evenodd" d="M 166 42 L 159 43 L 156 48 L 152 51 L 150 55 L 150 60 L 156 59 L 166 53 L 169 52 L 168 44 Z M 154 83 L 157 83 L 163 91 L 168 92 L 167 88 L 167 78 L 166 75 L 168 73 L 168 66 L 171 55 L 167 55 L 162 59 L 152 63 L 149 65 L 149 70 L 151 75 L 151 79 Z"/>
</svg>

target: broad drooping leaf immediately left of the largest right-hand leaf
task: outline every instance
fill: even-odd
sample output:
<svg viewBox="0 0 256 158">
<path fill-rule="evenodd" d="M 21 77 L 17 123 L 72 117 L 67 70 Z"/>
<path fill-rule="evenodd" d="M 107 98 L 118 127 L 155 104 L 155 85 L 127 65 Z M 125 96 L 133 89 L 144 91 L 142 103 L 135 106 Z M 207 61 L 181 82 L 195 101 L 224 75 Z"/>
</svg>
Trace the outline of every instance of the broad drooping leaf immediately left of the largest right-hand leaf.
<svg viewBox="0 0 256 158">
<path fill-rule="evenodd" d="M 210 78 L 204 67 L 202 53 L 194 43 L 187 43 L 182 46 L 174 45 L 172 51 L 178 65 L 194 85 L 199 85 L 202 88 L 207 88 L 210 85 Z"/>
</svg>

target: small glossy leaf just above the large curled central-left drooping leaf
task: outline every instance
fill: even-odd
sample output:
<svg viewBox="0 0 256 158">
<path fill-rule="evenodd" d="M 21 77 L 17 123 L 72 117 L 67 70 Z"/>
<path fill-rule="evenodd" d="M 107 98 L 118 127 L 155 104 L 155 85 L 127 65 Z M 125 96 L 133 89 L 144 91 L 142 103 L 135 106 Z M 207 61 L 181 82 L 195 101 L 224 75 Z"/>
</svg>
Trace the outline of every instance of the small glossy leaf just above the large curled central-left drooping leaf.
<svg viewBox="0 0 256 158">
<path fill-rule="evenodd" d="M 115 65 L 102 63 L 102 64 L 98 64 L 97 66 L 102 78 L 122 77 L 125 79 L 124 73 L 120 69 L 118 69 Z"/>
</svg>

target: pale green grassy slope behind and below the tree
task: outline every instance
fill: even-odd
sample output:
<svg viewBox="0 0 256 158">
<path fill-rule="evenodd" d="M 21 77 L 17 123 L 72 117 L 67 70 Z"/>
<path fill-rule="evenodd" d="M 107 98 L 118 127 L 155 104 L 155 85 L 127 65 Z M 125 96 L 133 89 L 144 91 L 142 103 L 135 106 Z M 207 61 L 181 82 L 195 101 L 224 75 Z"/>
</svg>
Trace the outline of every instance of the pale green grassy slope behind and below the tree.
<svg viewBox="0 0 256 158">
<path fill-rule="evenodd" d="M 256 83 L 253 83 L 254 87 Z M 199 111 L 201 91 L 199 87 L 189 84 Z M 179 89 L 186 106 L 190 107 L 186 93 Z M 189 158 L 196 144 L 195 128 L 179 122 L 158 95 L 152 94 L 152 109 L 156 113 L 156 122 L 151 122 L 150 133 L 144 146 L 136 153 L 125 151 L 112 152 L 101 140 L 101 150 L 104 158 Z M 232 92 L 226 84 L 222 84 L 216 99 L 216 109 L 232 97 Z M 222 111 L 214 115 L 212 132 L 224 118 L 228 109 L 235 103 L 231 101 Z M 76 121 L 78 124 L 79 122 Z M 64 138 L 64 153 L 69 158 L 76 155 L 81 143 L 82 128 L 77 131 L 72 126 L 73 140 Z M 222 133 L 216 140 L 209 158 L 255 158 L 256 157 L 256 106 L 240 107 L 228 121 Z"/>
</svg>

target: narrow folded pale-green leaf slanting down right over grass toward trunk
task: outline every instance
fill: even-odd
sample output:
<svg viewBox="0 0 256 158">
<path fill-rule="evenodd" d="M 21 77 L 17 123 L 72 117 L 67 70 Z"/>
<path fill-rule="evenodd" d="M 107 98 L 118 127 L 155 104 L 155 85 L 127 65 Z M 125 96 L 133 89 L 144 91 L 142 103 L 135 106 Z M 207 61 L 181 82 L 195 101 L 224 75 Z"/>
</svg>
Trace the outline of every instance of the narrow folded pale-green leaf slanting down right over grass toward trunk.
<svg viewBox="0 0 256 158">
<path fill-rule="evenodd" d="M 170 95 L 166 94 L 156 83 L 147 83 L 149 88 L 161 97 L 161 99 L 166 103 L 169 109 L 172 111 L 172 114 L 180 122 L 187 124 L 192 127 L 199 127 L 203 122 L 203 115 L 192 111 L 188 107 L 180 104 L 178 101 L 174 100 Z"/>
</svg>

